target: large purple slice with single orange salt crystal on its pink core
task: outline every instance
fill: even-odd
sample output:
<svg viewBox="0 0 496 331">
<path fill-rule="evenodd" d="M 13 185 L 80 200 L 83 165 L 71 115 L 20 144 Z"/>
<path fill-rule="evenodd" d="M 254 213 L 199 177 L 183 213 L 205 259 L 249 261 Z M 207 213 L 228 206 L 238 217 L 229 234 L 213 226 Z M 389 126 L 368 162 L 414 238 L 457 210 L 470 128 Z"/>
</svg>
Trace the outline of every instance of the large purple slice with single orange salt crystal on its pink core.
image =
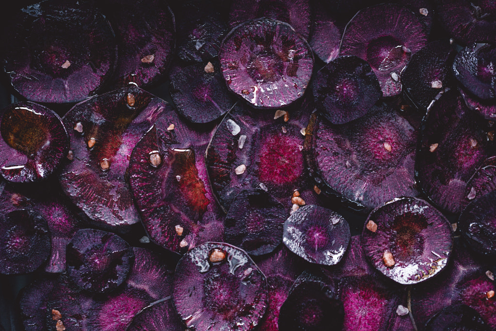
<svg viewBox="0 0 496 331">
<path fill-rule="evenodd" d="M 305 148 L 319 188 L 353 208 L 373 209 L 418 194 L 414 178 L 420 115 L 374 106 L 359 120 L 331 125 L 313 115 Z"/>
</svg>

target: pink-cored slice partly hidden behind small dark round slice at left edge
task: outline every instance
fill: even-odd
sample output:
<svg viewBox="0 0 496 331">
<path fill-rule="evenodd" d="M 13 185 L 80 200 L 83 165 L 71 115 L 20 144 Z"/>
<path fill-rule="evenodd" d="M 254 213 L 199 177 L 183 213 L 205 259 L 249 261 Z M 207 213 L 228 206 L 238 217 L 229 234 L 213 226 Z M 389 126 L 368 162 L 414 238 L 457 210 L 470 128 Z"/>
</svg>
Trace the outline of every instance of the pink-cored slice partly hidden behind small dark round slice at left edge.
<svg viewBox="0 0 496 331">
<path fill-rule="evenodd" d="M 47 220 L 52 238 L 52 253 L 45 271 L 59 273 L 65 270 L 65 246 L 74 233 L 83 226 L 81 219 L 61 197 L 58 184 L 53 181 L 33 187 L 0 185 L 0 209 L 8 212 L 18 209 L 37 211 Z"/>
</svg>

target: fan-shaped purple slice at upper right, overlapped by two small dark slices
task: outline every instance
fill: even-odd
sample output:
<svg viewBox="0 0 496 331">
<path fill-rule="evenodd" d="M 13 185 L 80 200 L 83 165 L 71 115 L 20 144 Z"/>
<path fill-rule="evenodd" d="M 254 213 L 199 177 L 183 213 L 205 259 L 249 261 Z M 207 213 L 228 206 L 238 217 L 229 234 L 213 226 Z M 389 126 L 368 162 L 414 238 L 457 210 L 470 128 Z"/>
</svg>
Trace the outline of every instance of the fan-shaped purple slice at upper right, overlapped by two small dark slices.
<svg viewBox="0 0 496 331">
<path fill-rule="evenodd" d="M 422 24 L 409 9 L 384 3 L 360 10 L 348 23 L 340 55 L 369 63 L 385 97 L 401 92 L 401 70 L 426 45 Z"/>
</svg>

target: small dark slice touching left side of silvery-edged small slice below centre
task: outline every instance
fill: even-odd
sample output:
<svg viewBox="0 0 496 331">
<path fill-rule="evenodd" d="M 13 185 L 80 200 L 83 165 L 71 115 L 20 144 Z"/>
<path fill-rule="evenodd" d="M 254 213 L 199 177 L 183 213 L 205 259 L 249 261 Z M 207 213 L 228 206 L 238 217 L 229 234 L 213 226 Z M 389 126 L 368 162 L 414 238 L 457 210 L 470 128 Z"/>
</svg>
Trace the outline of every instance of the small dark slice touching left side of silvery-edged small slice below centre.
<svg viewBox="0 0 496 331">
<path fill-rule="evenodd" d="M 225 220 L 225 241 L 251 256 L 272 252 L 282 241 L 288 211 L 267 192 L 242 191 Z"/>
</svg>

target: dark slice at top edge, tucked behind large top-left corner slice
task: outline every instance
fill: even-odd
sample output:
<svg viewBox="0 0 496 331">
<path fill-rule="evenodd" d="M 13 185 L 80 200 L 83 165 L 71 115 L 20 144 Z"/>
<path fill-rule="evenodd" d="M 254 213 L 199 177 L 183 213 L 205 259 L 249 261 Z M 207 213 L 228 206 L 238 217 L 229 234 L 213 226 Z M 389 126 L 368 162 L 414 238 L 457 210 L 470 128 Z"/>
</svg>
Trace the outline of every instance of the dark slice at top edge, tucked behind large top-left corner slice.
<svg viewBox="0 0 496 331">
<path fill-rule="evenodd" d="M 143 87 L 156 82 L 174 56 L 176 24 L 171 8 L 161 0 L 106 0 L 104 7 L 119 45 L 113 85 L 132 82 Z"/>
</svg>

